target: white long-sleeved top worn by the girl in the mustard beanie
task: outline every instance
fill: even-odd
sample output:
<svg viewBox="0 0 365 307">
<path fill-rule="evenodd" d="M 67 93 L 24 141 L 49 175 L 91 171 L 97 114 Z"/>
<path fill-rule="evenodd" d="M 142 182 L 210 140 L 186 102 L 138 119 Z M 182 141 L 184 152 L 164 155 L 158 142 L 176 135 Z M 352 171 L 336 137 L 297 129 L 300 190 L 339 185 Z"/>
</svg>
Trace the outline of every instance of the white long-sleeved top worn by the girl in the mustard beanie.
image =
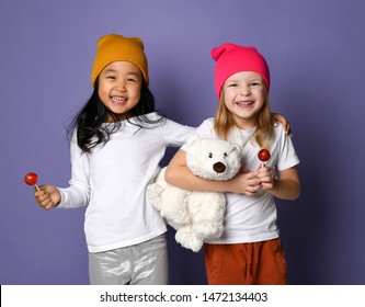
<svg viewBox="0 0 365 307">
<path fill-rule="evenodd" d="M 156 113 L 148 116 L 157 118 Z M 124 121 L 109 143 L 91 154 L 81 154 L 73 135 L 70 186 L 59 189 L 58 207 L 88 206 L 84 231 L 90 252 L 137 245 L 167 231 L 146 198 L 146 186 L 158 173 L 166 148 L 181 146 L 193 130 L 169 120 L 155 128 Z"/>
</svg>

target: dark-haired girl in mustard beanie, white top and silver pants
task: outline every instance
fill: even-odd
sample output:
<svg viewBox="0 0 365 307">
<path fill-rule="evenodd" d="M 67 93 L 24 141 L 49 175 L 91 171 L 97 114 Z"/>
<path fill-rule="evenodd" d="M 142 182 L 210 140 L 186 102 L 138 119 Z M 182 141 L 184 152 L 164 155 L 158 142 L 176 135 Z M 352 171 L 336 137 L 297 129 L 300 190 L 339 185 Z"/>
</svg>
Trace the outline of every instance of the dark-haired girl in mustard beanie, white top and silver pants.
<svg viewBox="0 0 365 307">
<path fill-rule="evenodd" d="M 42 185 L 36 201 L 45 209 L 87 206 L 91 284 L 168 284 L 167 227 L 145 192 L 167 147 L 193 128 L 155 112 L 137 37 L 101 37 L 91 82 L 70 129 L 70 186 Z"/>
</svg>

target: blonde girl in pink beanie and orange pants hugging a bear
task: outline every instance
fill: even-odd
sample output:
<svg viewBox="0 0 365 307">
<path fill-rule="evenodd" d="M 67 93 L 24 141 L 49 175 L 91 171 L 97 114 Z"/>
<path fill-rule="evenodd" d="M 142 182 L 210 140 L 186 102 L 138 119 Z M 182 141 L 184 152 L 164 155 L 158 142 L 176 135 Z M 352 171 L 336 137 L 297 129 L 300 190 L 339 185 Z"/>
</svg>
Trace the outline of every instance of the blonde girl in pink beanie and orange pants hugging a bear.
<svg viewBox="0 0 365 307">
<path fill-rule="evenodd" d="M 194 177 L 183 146 L 166 178 L 186 190 L 227 192 L 225 231 L 205 242 L 209 284 L 286 284 L 275 197 L 299 196 L 299 159 L 283 125 L 272 118 L 270 70 L 263 56 L 254 47 L 227 43 L 214 48 L 212 57 L 219 104 L 216 116 L 204 121 L 196 134 L 237 144 L 242 171 L 228 182 Z M 263 148 L 271 152 L 265 164 L 258 159 Z"/>
</svg>

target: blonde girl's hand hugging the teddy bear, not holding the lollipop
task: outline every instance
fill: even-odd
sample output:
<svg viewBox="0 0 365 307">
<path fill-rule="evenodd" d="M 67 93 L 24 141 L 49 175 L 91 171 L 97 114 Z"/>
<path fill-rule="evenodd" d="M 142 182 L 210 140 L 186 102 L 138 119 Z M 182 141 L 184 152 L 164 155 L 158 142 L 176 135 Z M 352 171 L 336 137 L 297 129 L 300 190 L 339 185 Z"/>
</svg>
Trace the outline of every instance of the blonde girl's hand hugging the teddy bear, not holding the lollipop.
<svg viewBox="0 0 365 307">
<path fill-rule="evenodd" d="M 247 196 L 253 196 L 261 189 L 258 172 L 251 172 L 249 170 L 241 170 L 230 182 L 230 192 L 244 194 Z"/>
</svg>

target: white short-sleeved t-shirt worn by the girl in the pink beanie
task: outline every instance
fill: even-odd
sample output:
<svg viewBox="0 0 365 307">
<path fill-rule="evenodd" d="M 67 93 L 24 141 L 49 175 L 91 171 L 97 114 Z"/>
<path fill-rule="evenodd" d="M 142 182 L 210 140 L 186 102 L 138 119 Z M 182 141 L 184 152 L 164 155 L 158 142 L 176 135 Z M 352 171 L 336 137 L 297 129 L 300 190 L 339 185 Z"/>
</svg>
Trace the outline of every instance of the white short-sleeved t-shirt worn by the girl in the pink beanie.
<svg viewBox="0 0 365 307">
<path fill-rule="evenodd" d="M 228 140 L 241 148 L 242 166 L 255 171 L 261 161 L 258 152 L 261 148 L 252 141 L 251 130 L 235 128 Z M 214 137 L 214 118 L 208 118 L 196 129 L 201 137 Z M 182 149 L 185 147 L 183 146 Z M 274 127 L 274 136 L 270 148 L 269 168 L 285 170 L 299 163 L 290 137 L 285 135 L 283 126 Z M 277 238 L 280 236 L 276 225 L 276 205 L 274 196 L 260 190 L 254 196 L 226 193 L 227 207 L 225 216 L 225 230 L 220 238 L 206 240 L 208 243 L 247 243 Z"/>
</svg>

